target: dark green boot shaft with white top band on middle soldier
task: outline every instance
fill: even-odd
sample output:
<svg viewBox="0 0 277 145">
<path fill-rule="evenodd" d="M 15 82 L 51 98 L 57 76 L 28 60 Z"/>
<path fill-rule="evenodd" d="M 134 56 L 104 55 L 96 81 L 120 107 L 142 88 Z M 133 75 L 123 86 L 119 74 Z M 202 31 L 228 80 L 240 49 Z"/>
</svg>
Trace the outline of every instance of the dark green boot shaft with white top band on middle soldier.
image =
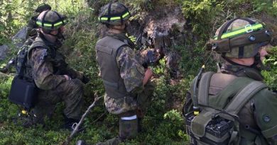
<svg viewBox="0 0 277 145">
<path fill-rule="evenodd" d="M 119 119 L 119 137 L 121 139 L 132 139 L 138 134 L 138 117 L 124 115 Z"/>
</svg>

